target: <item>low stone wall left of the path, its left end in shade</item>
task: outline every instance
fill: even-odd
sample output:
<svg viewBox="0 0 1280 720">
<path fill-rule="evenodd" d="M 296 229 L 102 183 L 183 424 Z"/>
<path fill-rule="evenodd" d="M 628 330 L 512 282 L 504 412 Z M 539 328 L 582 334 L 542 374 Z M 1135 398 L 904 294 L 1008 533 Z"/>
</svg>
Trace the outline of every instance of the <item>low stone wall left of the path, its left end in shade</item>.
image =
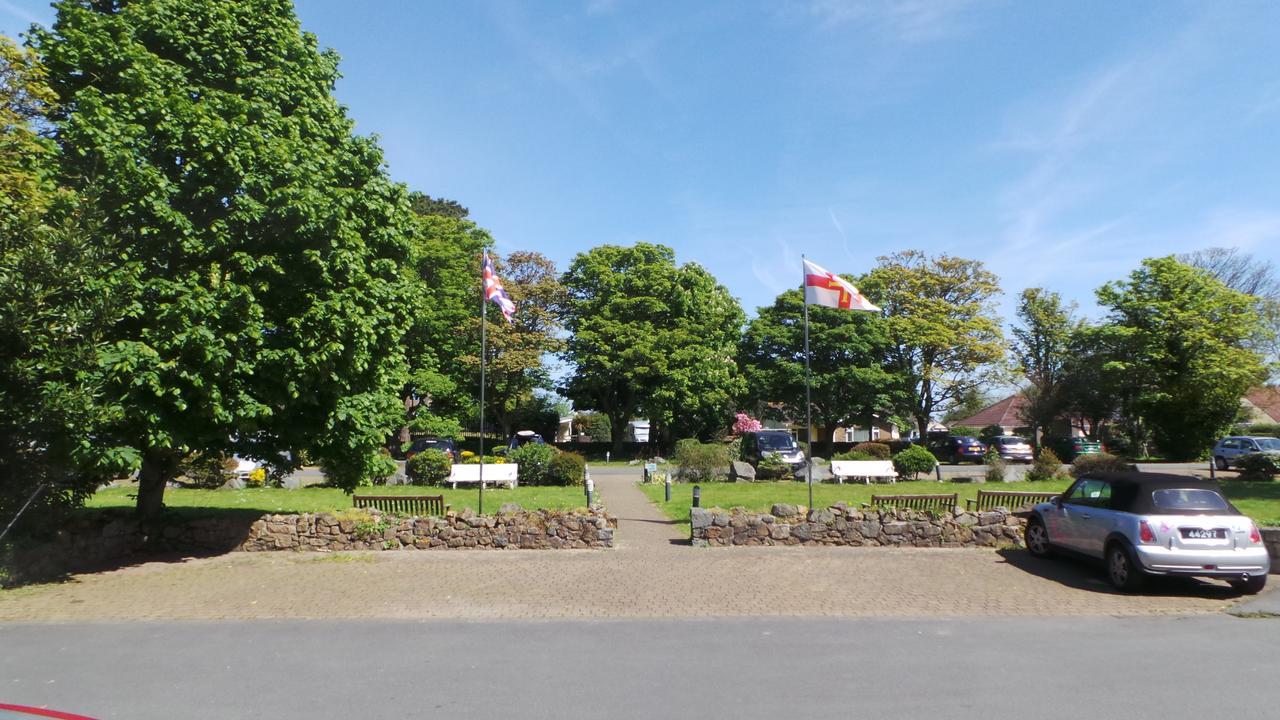
<svg viewBox="0 0 1280 720">
<path fill-rule="evenodd" d="M 524 510 L 504 505 L 495 515 L 474 511 L 443 518 L 398 518 L 378 510 L 333 514 L 228 514 L 141 524 L 132 514 L 81 516 L 47 542 L 0 557 L 0 584 L 58 577 L 131 556 L 163 552 L 335 550 L 580 550 L 613 547 L 617 518 L 590 511 Z"/>
</svg>

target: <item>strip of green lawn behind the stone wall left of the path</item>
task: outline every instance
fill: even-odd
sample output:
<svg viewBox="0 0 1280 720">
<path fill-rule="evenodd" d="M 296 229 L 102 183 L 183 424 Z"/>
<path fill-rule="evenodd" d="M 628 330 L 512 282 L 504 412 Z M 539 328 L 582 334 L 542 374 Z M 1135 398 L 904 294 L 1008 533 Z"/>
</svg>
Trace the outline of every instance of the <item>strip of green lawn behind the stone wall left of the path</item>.
<svg viewBox="0 0 1280 720">
<path fill-rule="evenodd" d="M 477 489 L 449 489 L 436 487 L 371 487 L 360 488 L 360 495 L 443 495 L 444 502 L 453 510 L 471 507 L 475 510 Z M 133 507 L 137 500 L 136 488 L 106 488 L 88 500 L 86 507 Z M 165 506 L 180 511 L 227 511 L 246 512 L 328 512 L 351 507 L 351 496 L 335 488 L 308 487 L 298 489 L 246 488 L 246 489 L 184 489 L 170 488 L 164 492 Z M 485 488 L 484 509 L 492 514 L 504 502 L 515 502 L 526 510 L 544 507 L 548 510 L 567 510 L 586 505 L 582 488 L 563 487 L 517 487 Z"/>
</svg>

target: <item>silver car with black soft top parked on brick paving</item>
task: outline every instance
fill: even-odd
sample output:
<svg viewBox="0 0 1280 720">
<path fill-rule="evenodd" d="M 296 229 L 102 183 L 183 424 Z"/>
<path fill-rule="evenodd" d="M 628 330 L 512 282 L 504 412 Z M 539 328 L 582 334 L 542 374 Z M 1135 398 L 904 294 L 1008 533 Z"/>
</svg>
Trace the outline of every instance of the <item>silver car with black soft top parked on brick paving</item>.
<svg viewBox="0 0 1280 720">
<path fill-rule="evenodd" d="M 1256 593 L 1271 568 L 1262 533 L 1217 482 L 1160 473 L 1085 475 L 1027 520 L 1027 550 L 1102 560 L 1107 579 L 1134 592 L 1149 575 L 1225 579 Z"/>
</svg>

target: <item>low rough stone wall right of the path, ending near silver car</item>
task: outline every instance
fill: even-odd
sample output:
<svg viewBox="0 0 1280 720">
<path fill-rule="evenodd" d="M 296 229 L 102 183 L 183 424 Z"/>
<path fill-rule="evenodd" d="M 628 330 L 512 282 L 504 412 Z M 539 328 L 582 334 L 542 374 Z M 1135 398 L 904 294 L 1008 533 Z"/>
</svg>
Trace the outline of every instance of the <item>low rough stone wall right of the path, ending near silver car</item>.
<svg viewBox="0 0 1280 720">
<path fill-rule="evenodd" d="M 774 505 L 772 512 L 741 507 L 695 507 L 690 511 L 692 542 L 698 547 L 731 544 L 842 544 L 973 547 L 1021 544 L 1025 520 L 1004 511 L 920 512 L 914 510 L 858 510 L 833 505 L 808 518 L 794 505 Z"/>
</svg>

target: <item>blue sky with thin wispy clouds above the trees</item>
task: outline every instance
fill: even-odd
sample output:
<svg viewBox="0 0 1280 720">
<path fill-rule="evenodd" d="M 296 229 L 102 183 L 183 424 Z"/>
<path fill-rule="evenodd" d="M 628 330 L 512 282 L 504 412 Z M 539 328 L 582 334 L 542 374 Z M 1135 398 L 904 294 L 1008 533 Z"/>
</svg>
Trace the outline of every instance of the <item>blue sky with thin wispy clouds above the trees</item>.
<svg viewBox="0 0 1280 720">
<path fill-rule="evenodd" d="M 355 9 L 353 9 L 355 8 Z M 749 313 L 920 249 L 1093 313 L 1142 258 L 1280 264 L 1280 4 L 300 0 L 392 176 L 564 268 L 653 241 Z M 47 22 L 0 0 L 0 31 Z"/>
</svg>

